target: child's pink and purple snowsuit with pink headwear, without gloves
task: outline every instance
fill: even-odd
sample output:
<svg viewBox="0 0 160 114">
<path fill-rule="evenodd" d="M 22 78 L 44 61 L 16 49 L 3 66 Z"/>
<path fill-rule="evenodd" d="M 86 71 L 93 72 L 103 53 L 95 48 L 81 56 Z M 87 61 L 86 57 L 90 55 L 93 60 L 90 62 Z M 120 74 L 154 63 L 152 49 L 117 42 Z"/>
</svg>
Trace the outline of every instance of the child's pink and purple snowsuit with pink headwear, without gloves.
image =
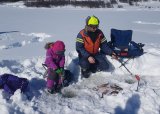
<svg viewBox="0 0 160 114">
<path fill-rule="evenodd" d="M 47 49 L 45 64 L 48 67 L 47 88 L 53 88 L 57 82 L 58 74 L 55 72 L 58 68 L 64 68 L 65 55 L 57 54 L 58 51 L 64 51 L 65 45 L 62 41 L 56 41 Z"/>
</svg>

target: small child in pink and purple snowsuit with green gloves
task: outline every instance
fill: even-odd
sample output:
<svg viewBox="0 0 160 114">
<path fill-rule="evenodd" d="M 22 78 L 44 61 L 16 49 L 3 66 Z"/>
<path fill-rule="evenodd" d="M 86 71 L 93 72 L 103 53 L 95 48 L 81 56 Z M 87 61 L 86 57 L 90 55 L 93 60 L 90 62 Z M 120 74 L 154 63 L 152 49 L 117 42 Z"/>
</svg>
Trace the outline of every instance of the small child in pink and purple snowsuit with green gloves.
<svg viewBox="0 0 160 114">
<path fill-rule="evenodd" d="M 47 90 L 50 93 L 55 91 L 55 85 L 61 84 L 61 76 L 64 73 L 65 64 L 65 45 L 62 41 L 47 43 L 45 48 L 46 60 L 45 64 L 48 67 Z"/>
</svg>

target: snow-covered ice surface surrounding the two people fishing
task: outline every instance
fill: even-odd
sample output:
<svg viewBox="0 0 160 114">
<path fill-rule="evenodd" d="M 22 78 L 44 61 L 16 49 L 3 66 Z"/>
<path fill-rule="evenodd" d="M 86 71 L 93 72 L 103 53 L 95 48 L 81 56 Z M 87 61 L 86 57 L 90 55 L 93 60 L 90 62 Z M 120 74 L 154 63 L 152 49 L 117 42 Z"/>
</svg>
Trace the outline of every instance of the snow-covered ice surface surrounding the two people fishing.
<svg viewBox="0 0 160 114">
<path fill-rule="evenodd" d="M 85 25 L 85 18 L 96 15 L 107 40 L 110 29 L 132 29 L 133 41 L 145 43 L 144 55 L 131 59 L 127 68 L 140 75 L 137 82 L 118 61 L 107 56 L 110 72 L 98 72 L 80 78 L 76 65 L 75 38 Z M 68 96 L 45 93 L 42 63 L 46 42 L 63 40 L 66 44 L 65 67 L 77 81 L 65 88 Z M 11 73 L 30 81 L 27 95 L 17 90 L 8 96 L 0 90 L 2 114 L 160 114 L 160 9 L 87 9 L 26 8 L 19 4 L 0 5 L 0 74 Z M 126 80 L 132 79 L 129 84 Z M 104 95 L 92 88 L 116 83 L 123 90 L 116 96 Z M 69 96 L 70 95 L 70 96 Z"/>
</svg>

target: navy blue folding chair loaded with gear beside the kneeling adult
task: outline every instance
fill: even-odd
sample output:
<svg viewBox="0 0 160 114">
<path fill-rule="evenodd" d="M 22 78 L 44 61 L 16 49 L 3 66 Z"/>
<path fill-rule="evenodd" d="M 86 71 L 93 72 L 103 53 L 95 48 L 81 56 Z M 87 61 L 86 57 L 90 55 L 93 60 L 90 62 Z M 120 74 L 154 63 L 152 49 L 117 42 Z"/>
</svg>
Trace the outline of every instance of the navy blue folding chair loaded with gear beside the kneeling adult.
<svg viewBox="0 0 160 114">
<path fill-rule="evenodd" d="M 144 53 L 144 44 L 132 41 L 132 33 L 132 30 L 111 29 L 111 41 L 108 45 L 117 56 L 134 58 Z"/>
</svg>

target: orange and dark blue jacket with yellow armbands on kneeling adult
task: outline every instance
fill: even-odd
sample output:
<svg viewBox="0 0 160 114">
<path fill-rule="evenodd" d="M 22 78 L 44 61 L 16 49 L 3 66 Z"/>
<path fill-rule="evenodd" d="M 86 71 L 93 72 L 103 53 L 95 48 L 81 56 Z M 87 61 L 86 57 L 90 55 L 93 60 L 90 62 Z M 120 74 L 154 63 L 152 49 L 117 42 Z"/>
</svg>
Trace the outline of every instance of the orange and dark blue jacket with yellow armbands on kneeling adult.
<svg viewBox="0 0 160 114">
<path fill-rule="evenodd" d="M 81 30 L 76 38 L 76 50 L 79 57 L 88 58 L 100 52 L 103 54 L 112 54 L 112 50 L 108 47 L 107 39 L 103 32 L 97 29 L 95 32 L 87 32 Z"/>
</svg>

